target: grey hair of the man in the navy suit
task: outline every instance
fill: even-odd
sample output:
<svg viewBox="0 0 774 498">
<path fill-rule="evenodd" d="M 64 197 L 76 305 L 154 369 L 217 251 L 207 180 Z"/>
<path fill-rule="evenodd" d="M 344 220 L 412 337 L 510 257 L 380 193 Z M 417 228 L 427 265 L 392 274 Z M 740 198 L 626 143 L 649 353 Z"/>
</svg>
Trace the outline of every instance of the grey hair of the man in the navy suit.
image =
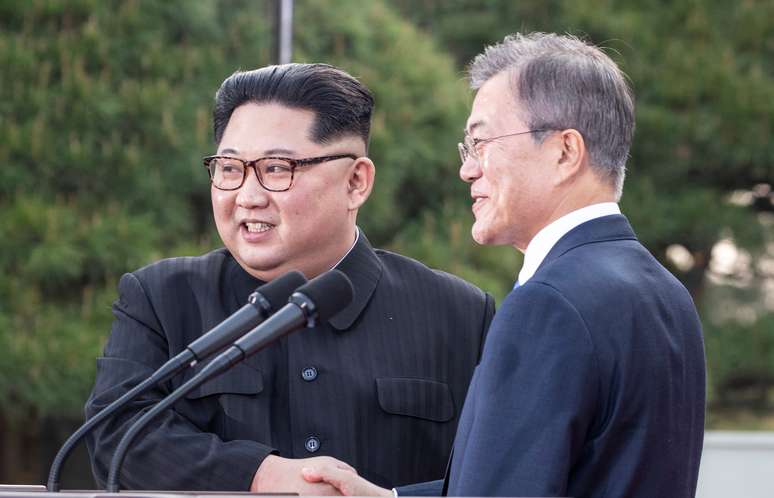
<svg viewBox="0 0 774 498">
<path fill-rule="evenodd" d="M 577 130 L 592 166 L 620 198 L 634 135 L 634 97 L 615 62 L 575 36 L 517 33 L 473 59 L 470 86 L 478 90 L 503 71 L 511 72 L 527 126 Z M 545 136 L 534 138 L 542 142 Z"/>
</svg>

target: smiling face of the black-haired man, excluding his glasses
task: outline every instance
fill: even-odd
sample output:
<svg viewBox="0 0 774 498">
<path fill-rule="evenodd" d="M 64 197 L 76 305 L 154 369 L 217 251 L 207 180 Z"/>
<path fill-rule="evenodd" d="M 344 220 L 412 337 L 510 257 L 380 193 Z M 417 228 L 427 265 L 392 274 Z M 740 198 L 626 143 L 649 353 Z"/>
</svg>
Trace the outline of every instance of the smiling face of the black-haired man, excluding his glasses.
<svg viewBox="0 0 774 498">
<path fill-rule="evenodd" d="M 280 104 L 247 103 L 237 107 L 223 133 L 218 155 L 244 160 L 267 156 L 292 159 L 354 154 L 299 166 L 286 192 L 261 187 L 253 168 L 234 191 L 211 187 L 215 224 L 223 243 L 250 274 L 271 280 L 289 270 L 312 278 L 330 269 L 352 246 L 357 209 L 370 193 L 363 189 L 363 166 L 373 164 L 358 137 L 321 145 L 313 142 L 312 111 Z"/>
</svg>

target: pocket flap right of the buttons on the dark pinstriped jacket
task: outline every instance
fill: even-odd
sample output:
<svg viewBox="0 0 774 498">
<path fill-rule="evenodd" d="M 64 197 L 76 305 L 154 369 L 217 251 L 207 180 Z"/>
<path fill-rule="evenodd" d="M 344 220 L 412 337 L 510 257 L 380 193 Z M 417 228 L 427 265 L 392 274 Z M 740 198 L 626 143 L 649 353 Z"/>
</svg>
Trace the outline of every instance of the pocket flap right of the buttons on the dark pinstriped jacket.
<svg viewBox="0 0 774 498">
<path fill-rule="evenodd" d="M 429 379 L 380 377 L 376 379 L 379 406 L 387 413 L 418 417 L 434 422 L 454 418 L 454 400 L 449 386 Z"/>
</svg>

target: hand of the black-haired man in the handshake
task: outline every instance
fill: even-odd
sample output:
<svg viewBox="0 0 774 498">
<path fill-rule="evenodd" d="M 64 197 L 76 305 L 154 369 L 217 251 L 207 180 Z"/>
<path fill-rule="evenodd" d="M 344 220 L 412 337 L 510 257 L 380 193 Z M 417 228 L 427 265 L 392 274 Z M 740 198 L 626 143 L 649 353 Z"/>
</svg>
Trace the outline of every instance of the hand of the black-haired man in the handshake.
<svg viewBox="0 0 774 498">
<path fill-rule="evenodd" d="M 339 496 L 338 490 L 325 482 L 308 482 L 301 478 L 304 467 L 321 466 L 357 475 L 357 471 L 344 462 L 331 457 L 282 458 L 267 456 L 253 476 L 250 491 L 253 493 L 298 493 L 299 495 Z"/>
</svg>

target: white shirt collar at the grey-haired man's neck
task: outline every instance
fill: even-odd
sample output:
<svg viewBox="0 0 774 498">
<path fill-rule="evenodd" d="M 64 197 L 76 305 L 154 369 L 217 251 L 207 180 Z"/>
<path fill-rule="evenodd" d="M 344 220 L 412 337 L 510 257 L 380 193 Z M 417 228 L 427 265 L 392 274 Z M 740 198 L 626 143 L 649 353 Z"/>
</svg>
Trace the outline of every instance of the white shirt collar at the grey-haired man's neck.
<svg viewBox="0 0 774 498">
<path fill-rule="evenodd" d="M 615 202 L 602 202 L 567 213 L 543 227 L 532 238 L 527 246 L 527 250 L 524 252 L 524 264 L 519 272 L 519 285 L 524 285 L 532 278 L 551 248 L 567 232 L 582 223 L 611 214 L 621 214 L 618 204 Z"/>
</svg>

